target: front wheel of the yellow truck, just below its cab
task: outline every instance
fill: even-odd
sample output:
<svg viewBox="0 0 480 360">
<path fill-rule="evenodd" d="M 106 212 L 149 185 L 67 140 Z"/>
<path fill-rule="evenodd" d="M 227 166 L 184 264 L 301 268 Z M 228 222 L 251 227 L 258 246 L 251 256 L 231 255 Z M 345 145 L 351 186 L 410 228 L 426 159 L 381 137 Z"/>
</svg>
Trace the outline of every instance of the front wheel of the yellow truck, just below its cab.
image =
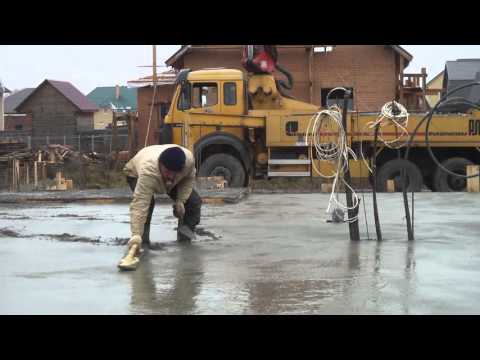
<svg viewBox="0 0 480 360">
<path fill-rule="evenodd" d="M 223 176 L 229 187 L 245 186 L 245 169 L 240 160 L 229 154 L 214 154 L 201 165 L 199 176 Z"/>
</svg>

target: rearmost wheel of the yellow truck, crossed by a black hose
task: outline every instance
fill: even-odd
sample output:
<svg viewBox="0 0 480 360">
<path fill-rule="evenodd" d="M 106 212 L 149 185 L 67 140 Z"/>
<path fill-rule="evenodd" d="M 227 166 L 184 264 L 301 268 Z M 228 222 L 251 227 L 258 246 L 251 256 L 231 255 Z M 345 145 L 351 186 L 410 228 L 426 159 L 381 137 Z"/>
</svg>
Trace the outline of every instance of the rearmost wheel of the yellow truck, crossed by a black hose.
<svg viewBox="0 0 480 360">
<path fill-rule="evenodd" d="M 473 165 L 473 162 L 465 158 L 455 157 L 445 160 L 442 165 L 450 171 L 466 175 L 467 165 Z M 465 191 L 467 179 L 447 174 L 442 168 L 437 167 L 433 177 L 433 186 L 435 191 L 439 192 Z"/>
</svg>

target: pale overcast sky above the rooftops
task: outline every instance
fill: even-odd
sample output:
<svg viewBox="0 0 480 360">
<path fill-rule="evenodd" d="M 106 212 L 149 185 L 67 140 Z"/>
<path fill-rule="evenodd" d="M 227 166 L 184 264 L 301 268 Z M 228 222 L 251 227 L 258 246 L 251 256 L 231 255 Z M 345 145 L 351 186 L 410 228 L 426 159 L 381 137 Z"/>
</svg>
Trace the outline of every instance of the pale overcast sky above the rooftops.
<svg viewBox="0 0 480 360">
<path fill-rule="evenodd" d="M 480 45 L 402 45 L 413 55 L 407 72 L 427 68 L 429 79 L 443 70 L 445 61 L 480 58 Z M 163 64 L 179 45 L 157 46 Z M 0 45 L 0 80 L 10 90 L 36 87 L 45 79 L 70 81 L 87 94 L 97 86 L 126 85 L 151 74 L 149 45 Z M 161 69 L 159 69 L 161 70 Z"/>
</svg>

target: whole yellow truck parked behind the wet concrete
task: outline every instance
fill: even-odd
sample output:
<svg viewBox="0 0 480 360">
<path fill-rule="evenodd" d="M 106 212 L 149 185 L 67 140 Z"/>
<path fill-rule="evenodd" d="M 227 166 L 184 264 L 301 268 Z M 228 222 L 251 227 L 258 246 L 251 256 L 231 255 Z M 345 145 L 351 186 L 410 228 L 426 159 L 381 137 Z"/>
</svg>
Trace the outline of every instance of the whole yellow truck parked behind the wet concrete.
<svg viewBox="0 0 480 360">
<path fill-rule="evenodd" d="M 315 167 L 322 173 L 332 171 L 332 164 L 318 160 L 306 142 L 307 126 L 321 109 L 285 96 L 277 85 L 271 74 L 182 70 L 160 142 L 187 147 L 195 155 L 199 176 L 223 176 L 232 187 L 247 186 L 255 178 L 318 177 Z M 360 151 L 367 161 L 371 158 L 373 132 L 367 124 L 378 115 L 348 113 L 348 145 L 358 157 L 349 160 L 354 182 L 370 176 Z M 425 115 L 410 114 L 408 130 L 412 132 Z M 387 141 L 398 136 L 393 128 L 382 130 Z M 465 173 L 466 165 L 480 163 L 478 111 L 434 115 L 429 135 L 433 152 L 448 169 Z M 427 186 L 433 191 L 463 191 L 465 179 L 439 171 L 426 146 L 424 126 L 413 139 L 409 161 L 399 159 L 404 150 L 380 146 L 378 190 L 387 180 L 398 185 L 405 168 L 411 190 Z"/>
</svg>

